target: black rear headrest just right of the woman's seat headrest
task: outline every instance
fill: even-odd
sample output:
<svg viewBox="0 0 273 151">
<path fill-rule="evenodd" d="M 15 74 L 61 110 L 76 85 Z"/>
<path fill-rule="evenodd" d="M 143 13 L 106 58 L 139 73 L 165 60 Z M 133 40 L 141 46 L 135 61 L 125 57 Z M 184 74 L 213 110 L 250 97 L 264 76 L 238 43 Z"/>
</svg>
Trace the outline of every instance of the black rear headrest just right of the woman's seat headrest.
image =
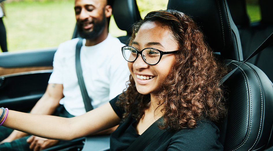
<svg viewBox="0 0 273 151">
<path fill-rule="evenodd" d="M 229 4 L 229 11 L 235 25 L 240 27 L 249 27 L 250 21 L 246 12 L 245 0 L 226 0 Z"/>
</svg>

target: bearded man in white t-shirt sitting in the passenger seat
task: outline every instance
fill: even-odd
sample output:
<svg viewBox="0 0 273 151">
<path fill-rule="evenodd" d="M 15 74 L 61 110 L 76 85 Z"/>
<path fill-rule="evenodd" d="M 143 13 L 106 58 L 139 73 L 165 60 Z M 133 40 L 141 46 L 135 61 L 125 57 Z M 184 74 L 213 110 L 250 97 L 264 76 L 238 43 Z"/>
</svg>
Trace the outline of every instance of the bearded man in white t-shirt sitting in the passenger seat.
<svg viewBox="0 0 273 151">
<path fill-rule="evenodd" d="M 81 68 L 93 108 L 120 94 L 126 88 L 125 82 L 129 80 L 127 62 L 122 58 L 120 51 L 124 44 L 108 33 L 111 14 L 112 7 L 108 5 L 107 0 L 75 0 L 77 27 L 80 37 L 83 38 L 80 51 Z M 78 41 L 79 38 L 75 38 L 59 45 L 47 90 L 30 113 L 62 117 L 86 113 L 75 67 Z M 105 133 L 111 133 L 113 129 Z M 29 136 L 19 131 L 10 133 L 11 130 L 0 128 L 0 150 L 37 151 L 59 142 Z"/>
</svg>

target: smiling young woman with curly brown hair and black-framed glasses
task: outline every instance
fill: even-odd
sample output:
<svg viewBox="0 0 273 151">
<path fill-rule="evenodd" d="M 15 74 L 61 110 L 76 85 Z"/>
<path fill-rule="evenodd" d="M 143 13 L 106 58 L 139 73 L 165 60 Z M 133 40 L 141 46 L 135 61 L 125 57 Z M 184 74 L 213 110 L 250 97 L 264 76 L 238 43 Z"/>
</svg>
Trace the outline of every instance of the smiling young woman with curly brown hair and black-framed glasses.
<svg viewBox="0 0 273 151">
<path fill-rule="evenodd" d="M 150 12 L 134 25 L 130 45 L 122 47 L 130 84 L 109 103 L 73 118 L 9 111 L 3 126 L 70 140 L 119 124 L 110 147 L 126 150 L 162 117 L 158 126 L 167 131 L 145 150 L 223 150 L 213 122 L 226 112 L 218 81 L 227 71 L 193 20 L 174 10 Z"/>
</svg>

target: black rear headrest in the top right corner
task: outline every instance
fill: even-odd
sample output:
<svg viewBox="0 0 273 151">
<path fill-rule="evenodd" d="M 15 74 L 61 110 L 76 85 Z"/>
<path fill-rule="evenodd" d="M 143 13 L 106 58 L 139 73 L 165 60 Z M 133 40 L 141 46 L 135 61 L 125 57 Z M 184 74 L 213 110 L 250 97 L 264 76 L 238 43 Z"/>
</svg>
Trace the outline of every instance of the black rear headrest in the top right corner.
<svg viewBox="0 0 273 151">
<path fill-rule="evenodd" d="M 273 23 L 273 1 L 272 0 L 260 0 L 262 22 Z"/>
</svg>

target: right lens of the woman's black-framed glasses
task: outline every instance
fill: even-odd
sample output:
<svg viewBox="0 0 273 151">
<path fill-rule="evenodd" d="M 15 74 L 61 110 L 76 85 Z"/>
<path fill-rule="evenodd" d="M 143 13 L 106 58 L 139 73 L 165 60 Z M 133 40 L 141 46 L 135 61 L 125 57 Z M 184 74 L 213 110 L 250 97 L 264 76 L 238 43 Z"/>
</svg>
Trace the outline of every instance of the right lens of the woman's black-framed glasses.
<svg viewBox="0 0 273 151">
<path fill-rule="evenodd" d="M 145 49 L 142 56 L 147 63 L 156 64 L 160 59 L 160 52 L 155 49 Z"/>
</svg>

